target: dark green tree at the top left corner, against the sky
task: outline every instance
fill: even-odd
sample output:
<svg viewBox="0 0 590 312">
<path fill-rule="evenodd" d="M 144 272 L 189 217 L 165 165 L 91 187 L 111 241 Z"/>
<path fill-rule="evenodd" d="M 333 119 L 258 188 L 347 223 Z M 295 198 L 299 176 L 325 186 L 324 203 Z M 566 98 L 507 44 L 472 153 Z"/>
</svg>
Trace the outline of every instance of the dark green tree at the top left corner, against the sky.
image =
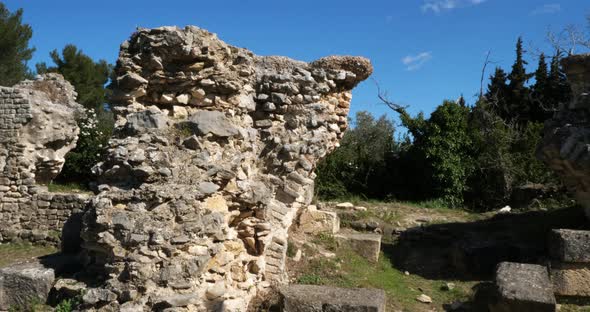
<svg viewBox="0 0 590 312">
<path fill-rule="evenodd" d="M 0 2 L 0 85 L 12 86 L 30 78 L 27 62 L 35 48 L 29 47 L 33 36 L 30 25 L 22 22 L 23 10 L 11 13 Z"/>
</svg>

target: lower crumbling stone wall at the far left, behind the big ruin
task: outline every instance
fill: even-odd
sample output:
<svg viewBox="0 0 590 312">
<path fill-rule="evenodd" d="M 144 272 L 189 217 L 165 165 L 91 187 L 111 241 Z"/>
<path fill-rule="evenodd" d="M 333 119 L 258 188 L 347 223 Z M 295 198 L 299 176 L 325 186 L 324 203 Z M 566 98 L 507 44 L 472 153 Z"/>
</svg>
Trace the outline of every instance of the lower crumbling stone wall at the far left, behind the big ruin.
<svg viewBox="0 0 590 312">
<path fill-rule="evenodd" d="M 75 146 L 75 96 L 56 74 L 0 87 L 0 242 L 57 244 L 70 216 L 82 212 L 86 196 L 51 194 L 40 185 L 57 176 Z"/>
</svg>

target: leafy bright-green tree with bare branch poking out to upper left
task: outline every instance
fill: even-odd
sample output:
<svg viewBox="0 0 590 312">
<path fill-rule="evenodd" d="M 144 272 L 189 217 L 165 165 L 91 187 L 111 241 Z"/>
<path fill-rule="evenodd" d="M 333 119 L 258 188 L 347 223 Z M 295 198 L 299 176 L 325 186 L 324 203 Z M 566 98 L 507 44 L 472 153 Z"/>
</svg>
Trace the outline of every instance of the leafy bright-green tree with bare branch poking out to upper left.
<svg viewBox="0 0 590 312">
<path fill-rule="evenodd" d="M 419 164 L 413 170 L 402 171 L 420 181 L 410 180 L 420 190 L 420 199 L 442 198 L 453 207 L 463 205 L 466 179 L 473 171 L 472 140 L 469 134 L 470 108 L 465 101 L 444 101 L 424 119 L 422 113 L 411 117 L 402 107 L 379 98 L 399 114 L 402 125 L 408 129 L 412 144 L 401 151 L 402 164 Z M 421 182 L 421 183 L 415 183 Z"/>
</svg>

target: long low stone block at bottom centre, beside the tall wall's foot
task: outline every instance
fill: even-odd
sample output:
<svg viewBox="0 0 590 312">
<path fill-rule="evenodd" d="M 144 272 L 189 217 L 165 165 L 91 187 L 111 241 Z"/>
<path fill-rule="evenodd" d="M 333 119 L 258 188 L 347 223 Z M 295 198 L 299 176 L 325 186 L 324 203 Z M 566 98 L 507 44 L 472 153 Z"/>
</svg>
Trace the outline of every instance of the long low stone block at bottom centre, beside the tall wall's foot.
<svg viewBox="0 0 590 312">
<path fill-rule="evenodd" d="M 380 289 L 290 285 L 280 289 L 284 312 L 384 312 Z"/>
</svg>

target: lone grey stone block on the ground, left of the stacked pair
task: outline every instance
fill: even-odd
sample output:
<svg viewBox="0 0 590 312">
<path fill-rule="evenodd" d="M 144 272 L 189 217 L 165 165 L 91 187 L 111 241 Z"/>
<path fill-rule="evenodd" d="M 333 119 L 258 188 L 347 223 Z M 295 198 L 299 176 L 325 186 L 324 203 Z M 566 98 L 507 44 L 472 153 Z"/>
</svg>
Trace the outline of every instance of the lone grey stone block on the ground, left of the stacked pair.
<svg viewBox="0 0 590 312">
<path fill-rule="evenodd" d="M 554 312 L 553 287 L 547 268 L 540 265 L 502 262 L 496 270 L 497 302 L 491 312 Z"/>
</svg>

